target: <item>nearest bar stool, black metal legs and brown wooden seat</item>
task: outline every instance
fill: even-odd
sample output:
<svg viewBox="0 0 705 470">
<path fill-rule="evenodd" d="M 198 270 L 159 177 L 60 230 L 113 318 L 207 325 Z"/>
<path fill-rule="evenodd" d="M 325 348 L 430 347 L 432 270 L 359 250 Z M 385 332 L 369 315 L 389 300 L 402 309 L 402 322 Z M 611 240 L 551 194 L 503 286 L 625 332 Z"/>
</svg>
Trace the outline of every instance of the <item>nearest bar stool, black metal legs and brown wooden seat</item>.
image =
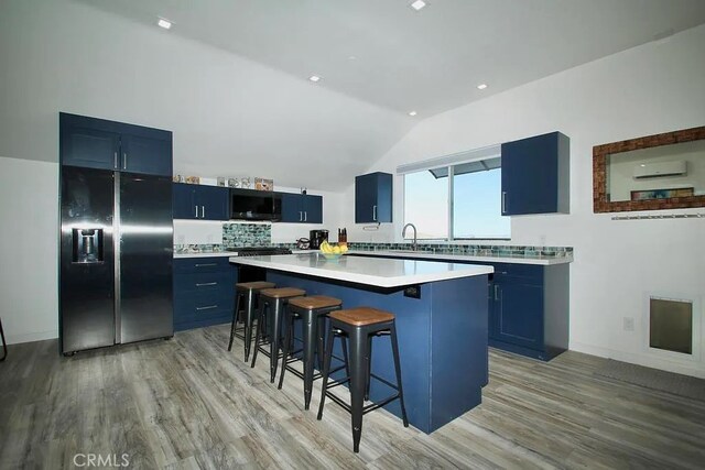
<svg viewBox="0 0 705 470">
<path fill-rule="evenodd" d="M 321 392 L 321 406 L 318 406 L 318 419 L 323 417 L 323 406 L 326 396 L 343 406 L 351 414 L 352 424 L 352 450 L 360 451 L 360 437 L 362 435 L 362 415 L 387 405 L 393 400 L 399 398 L 401 405 L 401 417 L 404 427 L 409 427 L 406 419 L 406 408 L 404 407 L 404 394 L 401 386 L 401 367 L 399 364 L 399 345 L 397 342 L 397 327 L 394 325 L 394 315 L 389 311 L 378 310 L 371 307 L 357 307 L 346 310 L 333 311 L 328 315 L 328 338 L 325 349 L 325 361 L 323 364 L 323 390 Z M 333 352 L 333 339 L 336 336 L 347 336 L 350 341 L 350 373 L 346 379 L 328 385 L 328 376 L 330 369 L 330 357 Z M 394 357 L 394 372 L 397 374 L 397 384 L 386 381 L 375 375 L 370 370 L 370 336 L 390 335 L 392 343 L 392 354 Z M 369 381 L 376 379 L 397 393 L 388 396 L 378 403 L 364 406 L 364 400 L 368 394 Z M 350 404 L 345 403 L 329 389 L 349 382 Z"/>
</svg>

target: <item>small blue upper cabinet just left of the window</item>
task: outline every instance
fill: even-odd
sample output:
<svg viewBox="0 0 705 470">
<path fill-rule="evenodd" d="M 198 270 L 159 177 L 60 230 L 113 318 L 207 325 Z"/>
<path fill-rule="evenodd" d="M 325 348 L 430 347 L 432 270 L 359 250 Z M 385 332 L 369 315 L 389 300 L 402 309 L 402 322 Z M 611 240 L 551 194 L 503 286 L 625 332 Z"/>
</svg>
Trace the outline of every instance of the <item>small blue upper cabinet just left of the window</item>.
<svg viewBox="0 0 705 470">
<path fill-rule="evenodd" d="M 355 223 L 392 221 L 392 175 L 369 173 L 355 177 Z"/>
</svg>

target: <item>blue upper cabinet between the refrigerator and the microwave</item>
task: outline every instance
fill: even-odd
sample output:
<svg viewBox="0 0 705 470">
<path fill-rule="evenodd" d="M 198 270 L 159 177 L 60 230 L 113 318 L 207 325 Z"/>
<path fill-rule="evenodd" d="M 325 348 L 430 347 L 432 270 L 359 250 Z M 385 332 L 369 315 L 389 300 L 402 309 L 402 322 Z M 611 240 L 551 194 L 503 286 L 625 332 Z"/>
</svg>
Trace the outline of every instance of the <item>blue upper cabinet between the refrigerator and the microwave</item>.
<svg viewBox="0 0 705 470">
<path fill-rule="evenodd" d="M 229 190 L 219 186 L 174 183 L 174 219 L 228 220 Z"/>
</svg>

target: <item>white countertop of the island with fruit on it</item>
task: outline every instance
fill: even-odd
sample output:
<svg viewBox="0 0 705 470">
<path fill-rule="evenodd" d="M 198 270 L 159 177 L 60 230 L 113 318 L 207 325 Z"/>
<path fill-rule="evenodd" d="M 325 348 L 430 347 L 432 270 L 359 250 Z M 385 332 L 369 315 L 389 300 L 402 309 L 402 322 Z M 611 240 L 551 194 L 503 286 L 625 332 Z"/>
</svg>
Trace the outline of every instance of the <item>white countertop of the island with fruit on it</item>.
<svg viewBox="0 0 705 470">
<path fill-rule="evenodd" d="M 234 256 L 236 264 L 267 267 L 289 273 L 306 274 L 379 287 L 398 287 L 494 272 L 492 266 L 414 261 L 389 258 L 344 255 L 332 261 L 318 252 L 267 256 Z"/>
</svg>

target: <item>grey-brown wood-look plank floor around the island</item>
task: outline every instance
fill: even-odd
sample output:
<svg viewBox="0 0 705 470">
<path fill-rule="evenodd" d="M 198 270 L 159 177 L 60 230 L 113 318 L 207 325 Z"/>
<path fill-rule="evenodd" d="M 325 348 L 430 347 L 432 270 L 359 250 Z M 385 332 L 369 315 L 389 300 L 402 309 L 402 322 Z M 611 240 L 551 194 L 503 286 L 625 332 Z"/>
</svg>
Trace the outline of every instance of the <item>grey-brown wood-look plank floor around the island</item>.
<svg viewBox="0 0 705 470">
<path fill-rule="evenodd" d="M 135 469 L 704 468 L 705 402 L 593 375 L 605 359 L 550 363 L 490 351 L 482 404 L 432 435 L 384 411 L 316 420 L 302 382 L 269 383 L 228 326 L 90 352 L 56 340 L 10 347 L 0 363 L 0 469 L 76 468 L 89 453 Z M 402 371 L 403 373 L 403 371 Z M 314 405 L 315 403 L 315 405 Z M 78 460 L 75 456 L 79 455 Z M 106 461 L 104 460 L 104 464 Z M 87 468 L 87 467 L 84 467 Z"/>
</svg>

